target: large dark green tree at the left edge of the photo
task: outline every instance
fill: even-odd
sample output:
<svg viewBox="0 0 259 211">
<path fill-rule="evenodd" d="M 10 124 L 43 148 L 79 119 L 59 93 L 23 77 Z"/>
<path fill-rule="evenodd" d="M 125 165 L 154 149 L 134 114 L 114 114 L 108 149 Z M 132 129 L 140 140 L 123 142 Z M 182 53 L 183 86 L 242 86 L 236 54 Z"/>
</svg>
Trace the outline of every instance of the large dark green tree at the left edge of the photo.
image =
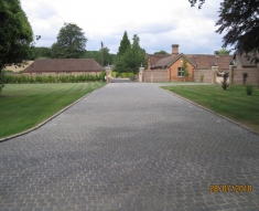
<svg viewBox="0 0 259 211">
<path fill-rule="evenodd" d="M 19 0 L 0 1 L 0 93 L 3 88 L 3 68 L 22 65 L 30 56 L 32 28 Z"/>
</svg>

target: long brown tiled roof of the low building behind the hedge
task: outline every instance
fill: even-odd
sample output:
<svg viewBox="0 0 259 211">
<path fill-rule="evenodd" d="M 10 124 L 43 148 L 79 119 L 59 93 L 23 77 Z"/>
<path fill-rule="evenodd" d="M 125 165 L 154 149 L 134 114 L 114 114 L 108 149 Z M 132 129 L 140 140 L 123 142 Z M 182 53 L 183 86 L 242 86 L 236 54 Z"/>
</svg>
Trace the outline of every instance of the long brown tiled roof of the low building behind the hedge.
<svg viewBox="0 0 259 211">
<path fill-rule="evenodd" d="M 101 71 L 94 59 L 36 60 L 23 73 L 31 72 L 91 72 Z"/>
</svg>

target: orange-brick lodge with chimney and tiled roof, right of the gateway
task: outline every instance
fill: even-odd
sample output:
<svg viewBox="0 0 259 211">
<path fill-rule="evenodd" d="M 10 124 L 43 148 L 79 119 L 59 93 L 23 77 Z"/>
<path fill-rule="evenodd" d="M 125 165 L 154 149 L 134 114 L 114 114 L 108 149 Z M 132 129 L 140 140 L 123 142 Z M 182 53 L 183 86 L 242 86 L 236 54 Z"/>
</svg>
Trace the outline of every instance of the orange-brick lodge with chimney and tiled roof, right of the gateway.
<svg viewBox="0 0 259 211">
<path fill-rule="evenodd" d="M 190 75 L 184 78 L 182 64 L 187 61 Z M 201 74 L 204 75 L 204 82 L 212 82 L 212 66 L 218 66 L 220 71 L 228 71 L 233 55 L 215 54 L 183 54 L 179 53 L 179 45 L 172 45 L 172 54 L 152 54 L 148 55 L 148 70 L 145 76 L 153 81 L 197 81 Z M 149 72 L 150 71 L 150 72 Z M 164 72 L 159 73 L 158 71 Z M 155 80 L 158 78 L 158 80 Z M 159 80 L 160 78 L 160 80 Z M 149 80 L 147 80 L 148 82 Z"/>
</svg>

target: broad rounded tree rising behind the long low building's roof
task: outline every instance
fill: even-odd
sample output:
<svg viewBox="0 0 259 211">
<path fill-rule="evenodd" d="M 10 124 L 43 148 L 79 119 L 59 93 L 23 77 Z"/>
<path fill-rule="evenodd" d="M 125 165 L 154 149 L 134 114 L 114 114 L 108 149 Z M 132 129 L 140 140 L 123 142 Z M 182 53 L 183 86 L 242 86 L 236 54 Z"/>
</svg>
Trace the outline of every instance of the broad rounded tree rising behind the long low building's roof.
<svg viewBox="0 0 259 211">
<path fill-rule="evenodd" d="M 78 59 L 85 54 L 87 39 L 83 29 L 75 23 L 64 23 L 57 35 L 57 41 L 52 45 L 52 57 Z"/>
</svg>

